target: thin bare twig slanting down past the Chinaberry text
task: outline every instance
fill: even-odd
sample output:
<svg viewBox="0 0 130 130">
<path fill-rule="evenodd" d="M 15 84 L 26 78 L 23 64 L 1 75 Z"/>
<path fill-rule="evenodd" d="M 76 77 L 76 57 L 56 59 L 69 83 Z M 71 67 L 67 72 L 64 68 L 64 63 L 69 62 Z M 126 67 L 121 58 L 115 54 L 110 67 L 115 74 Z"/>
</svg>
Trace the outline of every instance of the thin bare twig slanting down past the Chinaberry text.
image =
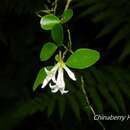
<svg viewBox="0 0 130 130">
<path fill-rule="evenodd" d="M 84 79 L 83 79 L 83 76 L 81 76 L 81 88 L 82 88 L 82 92 L 83 92 L 83 94 L 84 94 L 84 96 L 85 96 L 87 105 L 88 105 L 88 107 L 91 109 L 93 115 L 95 116 L 95 115 L 96 115 L 96 114 L 95 114 L 95 111 L 94 111 L 93 107 L 90 105 L 90 102 L 89 102 L 87 93 L 86 93 L 85 88 L 84 88 Z M 105 130 L 105 127 L 104 127 L 104 125 L 102 124 L 102 122 L 101 122 L 100 120 L 97 120 L 97 122 L 101 125 L 101 127 L 103 128 L 103 130 Z"/>
</svg>

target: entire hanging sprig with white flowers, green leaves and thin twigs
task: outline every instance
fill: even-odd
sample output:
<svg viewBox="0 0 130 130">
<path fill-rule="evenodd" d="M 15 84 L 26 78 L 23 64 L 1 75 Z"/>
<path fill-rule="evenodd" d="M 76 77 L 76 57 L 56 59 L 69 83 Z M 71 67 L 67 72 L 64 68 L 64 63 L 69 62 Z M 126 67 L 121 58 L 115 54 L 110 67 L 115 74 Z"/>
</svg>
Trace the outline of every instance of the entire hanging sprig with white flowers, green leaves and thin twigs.
<svg viewBox="0 0 130 130">
<path fill-rule="evenodd" d="M 60 92 L 62 95 L 66 94 L 69 90 L 65 88 L 64 71 L 71 80 L 76 82 L 76 75 L 71 68 L 75 69 L 75 71 L 76 69 L 88 68 L 95 64 L 100 58 L 100 54 L 96 50 L 79 48 L 73 51 L 70 30 L 64 27 L 64 24 L 71 20 L 73 16 L 73 10 L 69 8 L 71 1 L 72 0 L 67 0 L 65 9 L 60 16 L 56 15 L 58 0 L 52 3 L 50 9 L 47 8 L 46 10 L 37 12 L 37 15 L 41 18 L 41 28 L 43 30 L 49 30 L 52 37 L 52 41 L 44 43 L 40 52 L 40 60 L 42 62 L 47 61 L 55 52 L 58 52 L 58 54 L 56 54 L 54 59 L 56 62 L 55 64 L 45 66 L 39 71 L 33 85 L 33 91 L 35 91 L 38 86 L 41 86 L 41 88 L 49 86 L 52 93 Z M 40 13 L 45 13 L 46 15 L 41 16 Z M 65 32 L 68 34 L 67 38 L 64 37 Z M 84 88 L 84 79 L 82 75 L 81 89 L 86 99 L 86 105 L 90 108 L 93 115 L 95 115 L 95 111 L 90 105 Z M 103 130 L 105 130 L 103 124 L 99 120 L 98 123 L 102 126 Z"/>
</svg>

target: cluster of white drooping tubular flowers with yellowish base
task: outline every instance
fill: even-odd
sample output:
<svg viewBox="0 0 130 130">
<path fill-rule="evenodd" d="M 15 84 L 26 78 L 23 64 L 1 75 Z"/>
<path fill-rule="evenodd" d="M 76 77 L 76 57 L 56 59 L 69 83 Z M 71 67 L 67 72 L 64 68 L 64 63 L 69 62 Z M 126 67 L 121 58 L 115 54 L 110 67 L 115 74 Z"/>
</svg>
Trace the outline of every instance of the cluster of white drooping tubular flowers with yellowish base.
<svg viewBox="0 0 130 130">
<path fill-rule="evenodd" d="M 45 68 L 47 76 L 43 81 L 42 88 L 52 81 L 53 84 L 51 82 L 49 83 L 52 93 L 56 93 L 58 90 L 61 94 L 67 93 L 68 90 L 65 90 L 64 69 L 72 80 L 76 80 L 74 73 L 65 65 L 63 61 L 59 61 L 50 71 Z"/>
</svg>

